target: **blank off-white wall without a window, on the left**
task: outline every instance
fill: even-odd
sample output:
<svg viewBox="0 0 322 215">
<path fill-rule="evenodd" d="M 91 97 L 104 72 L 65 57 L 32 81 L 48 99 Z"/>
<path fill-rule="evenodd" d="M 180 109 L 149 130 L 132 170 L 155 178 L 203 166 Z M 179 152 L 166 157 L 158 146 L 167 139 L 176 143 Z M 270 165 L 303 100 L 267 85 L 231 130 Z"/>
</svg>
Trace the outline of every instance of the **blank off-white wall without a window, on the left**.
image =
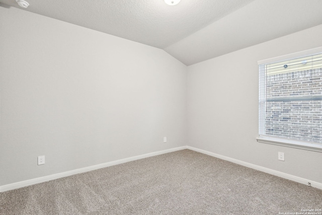
<svg viewBox="0 0 322 215">
<path fill-rule="evenodd" d="M 0 185 L 187 145 L 186 66 L 165 51 L 2 7 L 0 47 Z"/>
</svg>

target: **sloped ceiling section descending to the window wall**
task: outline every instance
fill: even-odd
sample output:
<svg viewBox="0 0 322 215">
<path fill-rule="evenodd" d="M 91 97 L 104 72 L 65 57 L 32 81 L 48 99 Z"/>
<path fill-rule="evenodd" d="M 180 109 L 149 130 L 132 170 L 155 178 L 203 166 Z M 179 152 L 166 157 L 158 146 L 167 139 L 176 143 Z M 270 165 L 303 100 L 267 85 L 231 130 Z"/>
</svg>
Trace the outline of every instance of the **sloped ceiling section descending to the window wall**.
<svg viewBox="0 0 322 215">
<path fill-rule="evenodd" d="M 165 50 L 191 65 L 319 24 L 321 0 L 256 0 Z"/>
</svg>

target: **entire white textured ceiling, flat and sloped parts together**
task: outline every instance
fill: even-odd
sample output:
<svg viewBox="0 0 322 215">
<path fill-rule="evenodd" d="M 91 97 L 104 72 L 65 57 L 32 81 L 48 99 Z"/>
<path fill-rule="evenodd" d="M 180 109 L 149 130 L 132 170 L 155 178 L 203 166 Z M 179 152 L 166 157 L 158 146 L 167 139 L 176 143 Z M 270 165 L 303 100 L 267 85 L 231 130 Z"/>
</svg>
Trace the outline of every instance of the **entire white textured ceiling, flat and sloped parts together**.
<svg viewBox="0 0 322 215">
<path fill-rule="evenodd" d="M 22 10 L 164 49 L 186 65 L 322 24 L 321 0 L 27 1 Z"/>
</svg>

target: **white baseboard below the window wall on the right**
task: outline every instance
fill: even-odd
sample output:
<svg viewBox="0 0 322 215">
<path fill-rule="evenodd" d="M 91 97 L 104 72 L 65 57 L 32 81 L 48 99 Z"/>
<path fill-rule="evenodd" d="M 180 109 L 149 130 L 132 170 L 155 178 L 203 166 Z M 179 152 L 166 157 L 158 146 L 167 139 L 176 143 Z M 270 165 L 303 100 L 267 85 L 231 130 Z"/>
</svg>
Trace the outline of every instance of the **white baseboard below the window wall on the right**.
<svg viewBox="0 0 322 215">
<path fill-rule="evenodd" d="M 294 175 L 290 175 L 290 174 L 287 174 L 287 173 L 283 173 L 283 172 L 268 169 L 268 168 L 265 168 L 265 167 L 257 166 L 255 164 L 250 164 L 250 163 L 247 163 L 247 162 L 244 162 L 244 161 L 239 161 L 239 160 L 236 160 L 236 159 L 233 159 L 233 158 L 218 155 L 218 154 L 208 152 L 208 151 L 205 151 L 205 150 L 201 150 L 201 149 L 197 149 L 197 148 L 194 148 L 194 147 L 187 146 L 187 149 L 193 150 L 193 151 L 196 151 L 196 152 L 200 152 L 202 154 L 210 155 L 212 157 L 219 158 L 219 159 L 222 159 L 222 160 L 225 160 L 225 161 L 229 161 L 229 162 L 232 162 L 232 163 L 235 163 L 235 164 L 239 164 L 241 166 L 245 166 L 245 167 L 249 167 L 249 168 L 252 168 L 252 169 L 255 169 L 255 170 L 259 170 L 259 171 L 262 171 L 262 172 L 265 172 L 265 173 L 269 173 L 271 175 L 276 175 L 278 177 L 285 178 L 285 179 L 288 179 L 288 180 L 291 180 L 291 181 L 295 181 L 295 182 L 298 182 L 298 183 L 301 183 L 301 184 L 307 185 L 307 182 L 310 182 L 312 187 L 322 189 L 322 183 L 318 183 L 316 181 L 311 181 L 311 180 L 308 180 L 308 179 L 305 179 L 305 178 L 300 178 L 300 177 L 297 177 L 297 176 L 294 176 Z"/>
</svg>

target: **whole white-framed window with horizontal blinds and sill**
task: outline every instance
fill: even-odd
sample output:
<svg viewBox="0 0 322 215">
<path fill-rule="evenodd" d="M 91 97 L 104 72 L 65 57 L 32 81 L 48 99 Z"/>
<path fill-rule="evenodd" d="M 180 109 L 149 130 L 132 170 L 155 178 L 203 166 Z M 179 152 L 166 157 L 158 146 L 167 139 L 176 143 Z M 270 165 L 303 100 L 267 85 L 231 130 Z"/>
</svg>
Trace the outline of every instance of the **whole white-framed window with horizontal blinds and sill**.
<svg viewBox="0 0 322 215">
<path fill-rule="evenodd" d="M 322 152 L 322 47 L 259 61 L 259 135 Z"/>
</svg>

